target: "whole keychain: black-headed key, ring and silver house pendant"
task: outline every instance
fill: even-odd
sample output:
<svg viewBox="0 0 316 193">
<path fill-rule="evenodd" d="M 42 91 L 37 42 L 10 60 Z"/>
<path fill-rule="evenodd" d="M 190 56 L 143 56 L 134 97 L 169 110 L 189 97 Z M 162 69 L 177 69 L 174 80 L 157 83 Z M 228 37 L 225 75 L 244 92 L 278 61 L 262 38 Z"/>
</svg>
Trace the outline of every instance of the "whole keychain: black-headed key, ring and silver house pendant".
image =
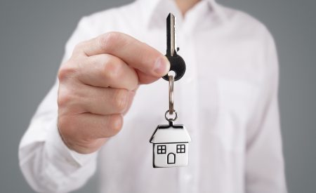
<svg viewBox="0 0 316 193">
<path fill-rule="evenodd" d="M 173 83 L 185 74 L 185 62 L 175 50 L 175 17 L 169 13 L 167 18 L 167 53 L 171 67 L 170 71 L 175 72 L 175 76 L 167 74 L 163 79 L 169 81 L 169 110 L 164 117 L 169 122 L 168 125 L 159 125 L 152 134 L 150 142 L 153 146 L 153 167 L 169 168 L 187 166 L 188 164 L 188 143 L 191 141 L 189 133 L 183 125 L 173 124 L 178 114 L 173 109 Z M 177 48 L 177 51 L 179 49 Z M 173 116 L 169 118 L 168 116 Z"/>
</svg>

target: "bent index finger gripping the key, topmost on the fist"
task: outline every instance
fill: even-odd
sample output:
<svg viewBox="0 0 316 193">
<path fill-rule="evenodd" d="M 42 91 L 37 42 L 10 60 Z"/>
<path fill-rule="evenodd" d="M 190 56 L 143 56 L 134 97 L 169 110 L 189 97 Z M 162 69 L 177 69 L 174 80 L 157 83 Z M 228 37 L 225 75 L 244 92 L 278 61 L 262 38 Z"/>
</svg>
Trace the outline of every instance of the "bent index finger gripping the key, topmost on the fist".
<svg viewBox="0 0 316 193">
<path fill-rule="evenodd" d="M 120 32 L 109 32 L 81 44 L 79 52 L 87 56 L 107 53 L 138 69 L 140 83 L 150 83 L 169 72 L 169 60 L 159 51 Z M 136 72 L 138 72 L 138 70 Z"/>
</svg>

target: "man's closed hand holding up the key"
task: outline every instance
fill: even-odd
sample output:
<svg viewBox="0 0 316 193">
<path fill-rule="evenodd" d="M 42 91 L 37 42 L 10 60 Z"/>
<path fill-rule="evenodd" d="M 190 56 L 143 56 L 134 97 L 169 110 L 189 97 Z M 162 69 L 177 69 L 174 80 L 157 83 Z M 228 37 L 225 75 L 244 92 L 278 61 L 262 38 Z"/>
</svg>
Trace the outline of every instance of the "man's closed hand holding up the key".
<svg viewBox="0 0 316 193">
<path fill-rule="evenodd" d="M 116 135 L 139 84 L 157 81 L 169 61 L 131 36 L 110 32 L 84 41 L 58 72 L 58 128 L 76 152 L 98 150 Z"/>
</svg>

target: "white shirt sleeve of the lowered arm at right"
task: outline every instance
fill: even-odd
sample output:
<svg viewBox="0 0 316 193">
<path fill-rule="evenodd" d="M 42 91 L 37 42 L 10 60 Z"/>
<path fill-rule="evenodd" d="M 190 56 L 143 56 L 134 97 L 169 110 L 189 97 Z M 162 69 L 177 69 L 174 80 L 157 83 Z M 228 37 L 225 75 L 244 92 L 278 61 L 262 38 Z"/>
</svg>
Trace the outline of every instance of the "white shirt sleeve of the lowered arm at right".
<svg viewBox="0 0 316 193">
<path fill-rule="evenodd" d="M 287 192 L 278 107 L 278 60 L 270 33 L 264 40 L 261 104 L 246 136 L 246 192 Z"/>
</svg>

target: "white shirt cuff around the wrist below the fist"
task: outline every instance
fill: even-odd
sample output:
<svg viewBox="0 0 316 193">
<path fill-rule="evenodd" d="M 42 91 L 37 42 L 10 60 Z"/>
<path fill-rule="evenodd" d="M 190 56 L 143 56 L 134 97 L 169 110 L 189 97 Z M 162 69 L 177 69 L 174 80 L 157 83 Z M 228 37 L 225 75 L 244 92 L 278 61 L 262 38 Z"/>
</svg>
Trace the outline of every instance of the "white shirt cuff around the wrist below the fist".
<svg viewBox="0 0 316 193">
<path fill-rule="evenodd" d="M 79 154 L 78 152 L 69 149 L 60 136 L 57 119 L 53 121 L 51 128 L 49 128 L 46 142 L 48 157 L 51 157 L 51 159 L 55 159 L 56 161 L 59 160 L 60 162 L 68 163 L 75 168 L 80 168 L 91 161 L 95 161 L 98 156 L 98 152 Z"/>
</svg>

